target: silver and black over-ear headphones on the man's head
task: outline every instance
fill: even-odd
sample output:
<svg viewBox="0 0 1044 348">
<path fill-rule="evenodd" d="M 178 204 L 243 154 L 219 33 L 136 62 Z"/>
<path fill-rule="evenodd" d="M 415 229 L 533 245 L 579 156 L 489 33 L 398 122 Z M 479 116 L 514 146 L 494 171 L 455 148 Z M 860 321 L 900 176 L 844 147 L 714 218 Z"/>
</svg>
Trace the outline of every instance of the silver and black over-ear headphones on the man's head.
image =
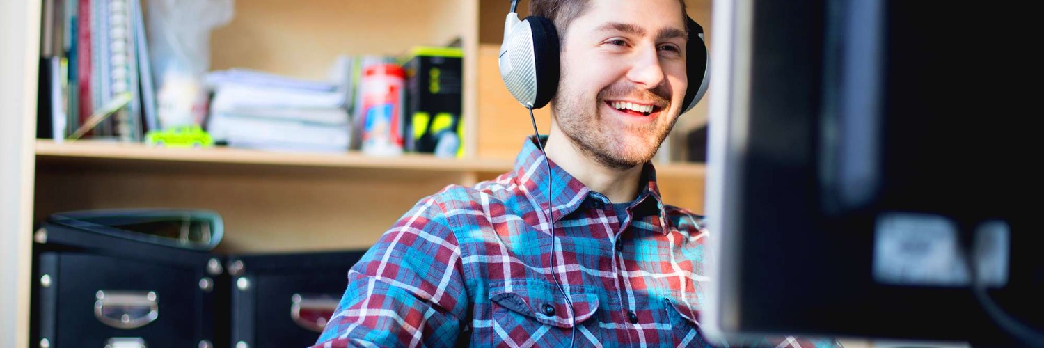
<svg viewBox="0 0 1044 348">
<path fill-rule="evenodd" d="M 515 13 L 518 0 L 512 1 L 512 11 L 504 21 L 504 42 L 500 44 L 498 60 L 500 78 L 507 91 L 523 107 L 540 109 L 554 97 L 559 89 L 559 33 L 551 20 L 529 16 L 519 20 Z M 689 111 L 707 93 L 710 83 L 710 56 L 704 39 L 704 27 L 688 16 L 685 25 L 689 41 L 685 45 L 686 73 L 689 88 L 682 105 Z M 693 40 L 698 38 L 698 40 Z M 693 82 L 698 88 L 692 88 Z"/>
</svg>

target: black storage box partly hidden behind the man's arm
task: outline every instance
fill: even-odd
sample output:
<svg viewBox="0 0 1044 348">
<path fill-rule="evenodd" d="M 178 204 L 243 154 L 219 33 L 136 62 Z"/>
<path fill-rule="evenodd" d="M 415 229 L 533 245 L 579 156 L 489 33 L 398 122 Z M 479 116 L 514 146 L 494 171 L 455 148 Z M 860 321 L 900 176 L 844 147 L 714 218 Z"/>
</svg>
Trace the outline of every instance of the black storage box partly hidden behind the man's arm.
<svg viewBox="0 0 1044 348">
<path fill-rule="evenodd" d="M 232 344 L 315 344 L 364 251 L 230 256 Z"/>
</svg>

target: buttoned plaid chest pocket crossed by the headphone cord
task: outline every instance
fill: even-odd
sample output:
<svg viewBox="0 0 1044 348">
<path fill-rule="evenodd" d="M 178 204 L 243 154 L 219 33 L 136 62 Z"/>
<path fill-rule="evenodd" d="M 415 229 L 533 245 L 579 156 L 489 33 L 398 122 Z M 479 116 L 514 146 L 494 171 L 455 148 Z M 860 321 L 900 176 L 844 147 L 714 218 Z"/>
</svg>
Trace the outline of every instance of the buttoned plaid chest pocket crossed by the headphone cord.
<svg viewBox="0 0 1044 348">
<path fill-rule="evenodd" d="M 598 297 L 575 286 L 569 300 L 572 302 L 571 312 L 556 285 L 533 279 L 491 288 L 491 343 L 522 346 L 532 341 L 541 347 L 567 344 L 573 326 L 580 326 L 598 309 Z"/>
</svg>

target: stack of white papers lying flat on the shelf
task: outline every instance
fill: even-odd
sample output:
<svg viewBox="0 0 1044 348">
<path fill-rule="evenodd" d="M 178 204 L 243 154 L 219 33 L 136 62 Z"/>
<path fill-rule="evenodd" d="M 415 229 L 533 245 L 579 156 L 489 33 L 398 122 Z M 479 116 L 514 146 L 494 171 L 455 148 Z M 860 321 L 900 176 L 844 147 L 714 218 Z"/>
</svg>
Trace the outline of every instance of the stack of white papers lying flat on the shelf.
<svg viewBox="0 0 1044 348">
<path fill-rule="evenodd" d="M 207 131 L 233 147 L 345 152 L 351 143 L 346 85 L 247 69 L 207 75 L 214 91 Z"/>
</svg>

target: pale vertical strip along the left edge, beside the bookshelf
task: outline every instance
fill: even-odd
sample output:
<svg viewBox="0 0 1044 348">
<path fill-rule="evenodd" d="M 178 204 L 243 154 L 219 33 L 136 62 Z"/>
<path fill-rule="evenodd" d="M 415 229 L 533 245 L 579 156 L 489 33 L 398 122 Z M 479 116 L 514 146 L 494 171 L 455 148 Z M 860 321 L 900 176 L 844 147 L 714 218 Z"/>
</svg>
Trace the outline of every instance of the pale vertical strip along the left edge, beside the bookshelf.
<svg viewBox="0 0 1044 348">
<path fill-rule="evenodd" d="M 0 0 L 0 348 L 29 345 L 39 0 Z"/>
</svg>

